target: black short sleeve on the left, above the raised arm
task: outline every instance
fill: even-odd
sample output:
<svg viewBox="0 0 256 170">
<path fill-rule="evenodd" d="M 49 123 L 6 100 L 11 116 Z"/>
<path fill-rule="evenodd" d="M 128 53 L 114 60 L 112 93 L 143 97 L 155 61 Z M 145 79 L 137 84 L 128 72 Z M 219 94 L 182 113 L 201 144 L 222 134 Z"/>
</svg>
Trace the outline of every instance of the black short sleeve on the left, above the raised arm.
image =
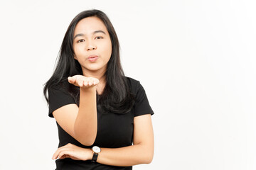
<svg viewBox="0 0 256 170">
<path fill-rule="evenodd" d="M 53 118 L 53 111 L 55 111 L 56 109 L 71 103 L 75 103 L 74 98 L 70 94 L 68 94 L 68 92 L 62 91 L 61 89 L 49 88 L 48 96 L 49 96 L 48 116 L 50 118 Z"/>
</svg>

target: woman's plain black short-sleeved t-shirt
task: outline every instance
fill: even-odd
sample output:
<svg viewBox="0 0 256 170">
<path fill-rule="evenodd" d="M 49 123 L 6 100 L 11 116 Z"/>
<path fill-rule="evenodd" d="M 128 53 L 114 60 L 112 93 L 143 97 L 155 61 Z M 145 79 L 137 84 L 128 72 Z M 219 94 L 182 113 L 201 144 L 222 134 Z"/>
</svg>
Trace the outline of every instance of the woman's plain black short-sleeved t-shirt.
<svg viewBox="0 0 256 170">
<path fill-rule="evenodd" d="M 107 148 L 117 148 L 117 147 L 126 147 L 132 145 L 133 142 L 133 130 L 134 130 L 134 117 L 138 115 L 151 114 L 154 112 L 149 106 L 149 101 L 146 97 L 146 92 L 144 91 L 143 86 L 139 83 L 139 81 L 127 77 L 129 85 L 132 89 L 132 94 L 135 97 L 135 103 L 132 108 L 132 111 L 129 111 L 125 114 L 114 114 L 107 113 L 102 114 L 97 110 L 97 137 L 95 139 L 95 143 L 92 146 L 98 147 L 107 147 Z M 70 103 L 75 103 L 73 96 L 60 89 L 50 88 L 48 91 L 49 95 L 49 113 L 48 115 L 53 118 L 53 111 L 56 109 L 65 106 Z M 57 123 L 57 122 L 56 122 Z M 77 145 L 78 147 L 83 148 L 92 148 L 92 146 L 82 145 L 80 142 L 75 140 L 72 136 L 70 136 L 60 125 L 58 126 L 58 136 L 59 136 L 59 145 L 58 147 L 62 147 L 71 143 L 73 145 Z M 76 161 L 70 158 L 65 159 L 57 159 L 55 161 L 57 169 L 65 170 L 65 169 L 132 169 L 132 166 L 109 166 L 105 164 L 100 164 L 97 162 L 91 161 Z"/>
</svg>

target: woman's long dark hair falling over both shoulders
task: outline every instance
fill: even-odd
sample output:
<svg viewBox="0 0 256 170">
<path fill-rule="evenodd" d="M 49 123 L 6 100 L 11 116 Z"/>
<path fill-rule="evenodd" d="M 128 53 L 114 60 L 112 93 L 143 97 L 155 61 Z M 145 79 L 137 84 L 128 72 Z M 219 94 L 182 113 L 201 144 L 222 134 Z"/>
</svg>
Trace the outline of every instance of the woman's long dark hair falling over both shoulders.
<svg viewBox="0 0 256 170">
<path fill-rule="evenodd" d="M 110 19 L 102 11 L 93 9 L 82 11 L 75 16 L 71 21 L 68 30 L 63 38 L 60 51 L 58 53 L 57 65 L 52 77 L 44 84 L 43 94 L 49 104 L 47 91 L 50 88 L 58 88 L 64 92 L 68 92 L 75 99 L 75 103 L 79 106 L 80 88 L 73 84 L 66 83 L 68 77 L 80 74 L 82 75 L 82 68 L 80 63 L 74 59 L 73 50 L 73 36 L 75 26 L 82 18 L 96 16 L 105 24 L 110 39 L 112 42 L 112 55 L 107 63 L 107 70 L 105 72 L 106 85 L 101 95 L 97 94 L 97 108 L 102 113 L 119 113 L 124 114 L 131 111 L 134 105 L 134 94 L 132 94 L 131 87 L 120 62 L 119 56 L 119 41 L 117 34 L 110 22 Z"/>
</svg>

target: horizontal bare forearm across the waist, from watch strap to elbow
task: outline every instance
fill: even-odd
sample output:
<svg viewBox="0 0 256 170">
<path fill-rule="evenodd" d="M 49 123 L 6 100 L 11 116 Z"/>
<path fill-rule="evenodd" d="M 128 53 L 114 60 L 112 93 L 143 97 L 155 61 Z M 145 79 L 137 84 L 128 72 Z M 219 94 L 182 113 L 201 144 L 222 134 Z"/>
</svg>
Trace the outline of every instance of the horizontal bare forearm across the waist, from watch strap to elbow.
<svg viewBox="0 0 256 170">
<path fill-rule="evenodd" d="M 97 162 L 112 166 L 149 164 L 154 155 L 154 146 L 132 145 L 120 148 L 101 148 Z"/>
</svg>

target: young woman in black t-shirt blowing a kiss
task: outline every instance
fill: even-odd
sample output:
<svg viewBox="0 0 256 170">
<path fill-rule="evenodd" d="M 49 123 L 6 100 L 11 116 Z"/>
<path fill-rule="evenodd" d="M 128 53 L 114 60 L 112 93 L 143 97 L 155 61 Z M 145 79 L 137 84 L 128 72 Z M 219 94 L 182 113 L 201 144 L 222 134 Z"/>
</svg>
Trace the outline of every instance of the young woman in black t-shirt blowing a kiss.
<svg viewBox="0 0 256 170">
<path fill-rule="evenodd" d="M 70 23 L 43 93 L 58 126 L 57 169 L 152 161 L 154 112 L 139 81 L 124 76 L 117 35 L 102 11 L 83 11 Z"/>
</svg>

